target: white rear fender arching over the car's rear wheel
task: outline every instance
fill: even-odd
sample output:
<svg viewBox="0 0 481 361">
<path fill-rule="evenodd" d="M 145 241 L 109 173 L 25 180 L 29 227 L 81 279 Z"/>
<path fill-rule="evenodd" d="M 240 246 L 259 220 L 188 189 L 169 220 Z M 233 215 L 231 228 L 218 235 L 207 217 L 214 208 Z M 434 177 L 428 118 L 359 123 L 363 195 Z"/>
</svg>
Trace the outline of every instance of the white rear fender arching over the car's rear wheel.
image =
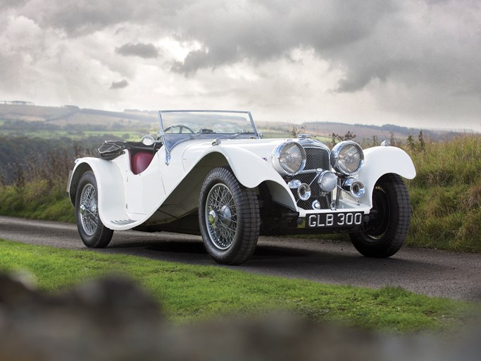
<svg viewBox="0 0 481 361">
<path fill-rule="evenodd" d="M 102 223 L 111 226 L 113 219 L 127 219 L 122 175 L 118 166 L 112 161 L 91 157 L 77 159 L 68 186 L 70 201 L 75 205 L 77 185 L 80 177 L 86 171 L 94 172 L 99 200 L 99 216 Z"/>
</svg>

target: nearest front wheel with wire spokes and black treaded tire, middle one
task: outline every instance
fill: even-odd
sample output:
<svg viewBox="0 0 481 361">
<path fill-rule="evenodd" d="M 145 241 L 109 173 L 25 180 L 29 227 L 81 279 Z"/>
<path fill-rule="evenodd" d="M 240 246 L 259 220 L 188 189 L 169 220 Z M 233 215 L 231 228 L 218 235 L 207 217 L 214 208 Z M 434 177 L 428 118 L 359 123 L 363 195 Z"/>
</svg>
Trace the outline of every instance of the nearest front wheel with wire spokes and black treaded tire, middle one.
<svg viewBox="0 0 481 361">
<path fill-rule="evenodd" d="M 256 194 L 241 185 L 229 168 L 213 169 L 202 184 L 199 225 L 215 262 L 246 262 L 256 249 L 261 227 Z"/>
</svg>

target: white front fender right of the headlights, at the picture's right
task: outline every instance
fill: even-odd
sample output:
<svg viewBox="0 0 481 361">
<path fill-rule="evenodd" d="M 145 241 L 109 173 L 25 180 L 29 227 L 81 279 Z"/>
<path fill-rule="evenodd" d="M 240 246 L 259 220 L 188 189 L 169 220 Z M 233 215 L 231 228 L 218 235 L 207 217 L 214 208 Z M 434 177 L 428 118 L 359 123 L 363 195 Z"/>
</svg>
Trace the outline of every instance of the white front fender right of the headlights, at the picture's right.
<svg viewBox="0 0 481 361">
<path fill-rule="evenodd" d="M 366 189 L 363 203 L 373 207 L 374 186 L 377 180 L 387 173 L 399 174 L 408 179 L 416 177 L 413 161 L 403 149 L 398 147 L 364 149 L 364 166 L 358 173 L 358 179 L 364 183 Z"/>
</svg>

